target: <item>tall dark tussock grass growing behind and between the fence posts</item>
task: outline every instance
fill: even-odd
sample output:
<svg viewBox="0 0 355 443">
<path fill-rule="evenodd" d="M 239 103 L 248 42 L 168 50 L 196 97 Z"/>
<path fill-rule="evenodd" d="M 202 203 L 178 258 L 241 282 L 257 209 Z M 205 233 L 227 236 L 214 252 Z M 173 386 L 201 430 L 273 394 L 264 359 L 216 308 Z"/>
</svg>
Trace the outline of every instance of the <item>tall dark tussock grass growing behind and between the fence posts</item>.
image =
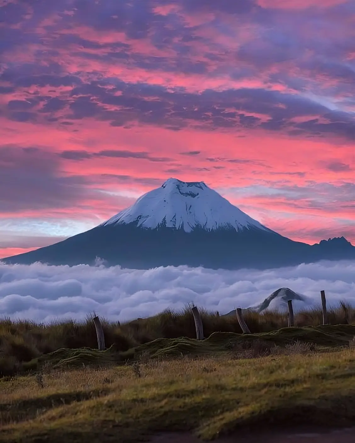
<svg viewBox="0 0 355 443">
<path fill-rule="evenodd" d="M 187 305 L 181 311 L 167 309 L 153 317 L 122 324 L 100 318 L 106 347 L 112 347 L 119 352 L 128 352 L 132 348 L 160 338 L 195 338 L 195 324 L 190 308 L 191 306 Z M 217 312 L 203 308 L 199 308 L 199 311 L 205 337 L 214 332 L 241 334 L 236 315 L 220 316 Z M 244 318 L 252 334 L 268 333 L 288 326 L 287 314 L 278 311 L 263 313 L 245 311 Z M 328 320 L 331 325 L 353 323 L 355 310 L 349 304 L 341 302 L 338 307 L 328 310 Z M 320 306 L 295 315 L 295 323 L 300 327 L 318 326 L 322 322 Z M 36 369 L 36 361 L 41 356 L 57 350 L 96 347 L 97 337 L 92 315 L 83 322 L 68 319 L 35 323 L 27 320 L 2 319 L 0 320 L 0 377 L 11 376 L 24 369 Z"/>
</svg>

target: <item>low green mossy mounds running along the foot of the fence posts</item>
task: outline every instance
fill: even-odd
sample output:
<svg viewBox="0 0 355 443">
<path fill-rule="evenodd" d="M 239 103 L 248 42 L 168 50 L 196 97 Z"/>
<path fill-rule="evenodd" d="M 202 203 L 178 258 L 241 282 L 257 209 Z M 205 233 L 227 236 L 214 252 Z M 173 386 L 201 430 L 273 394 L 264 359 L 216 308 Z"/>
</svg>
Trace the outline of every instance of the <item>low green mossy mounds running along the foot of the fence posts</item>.
<svg viewBox="0 0 355 443">
<path fill-rule="evenodd" d="M 181 355 L 217 355 L 229 351 L 238 344 L 256 339 L 284 346 L 295 340 L 313 343 L 320 348 L 347 346 L 355 336 L 355 326 L 305 326 L 302 328 L 283 328 L 261 334 L 235 334 L 233 332 L 214 332 L 205 340 L 192 338 L 158 338 L 153 342 L 119 352 L 115 346 L 99 351 L 91 348 L 59 349 L 28 363 L 28 369 L 36 369 L 46 362 L 53 368 L 61 366 L 113 365 L 135 361 L 146 354 L 148 358 L 169 358 Z"/>
</svg>

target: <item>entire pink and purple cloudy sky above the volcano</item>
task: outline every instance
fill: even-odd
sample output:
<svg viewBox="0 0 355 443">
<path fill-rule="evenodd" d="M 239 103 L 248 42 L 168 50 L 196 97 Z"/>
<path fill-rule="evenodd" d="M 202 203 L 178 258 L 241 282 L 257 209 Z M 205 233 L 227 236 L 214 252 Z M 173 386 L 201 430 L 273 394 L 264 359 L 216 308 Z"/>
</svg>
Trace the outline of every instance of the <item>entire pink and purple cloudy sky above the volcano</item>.
<svg viewBox="0 0 355 443">
<path fill-rule="evenodd" d="M 355 244 L 351 1 L 0 2 L 0 257 L 169 177 Z"/>
</svg>

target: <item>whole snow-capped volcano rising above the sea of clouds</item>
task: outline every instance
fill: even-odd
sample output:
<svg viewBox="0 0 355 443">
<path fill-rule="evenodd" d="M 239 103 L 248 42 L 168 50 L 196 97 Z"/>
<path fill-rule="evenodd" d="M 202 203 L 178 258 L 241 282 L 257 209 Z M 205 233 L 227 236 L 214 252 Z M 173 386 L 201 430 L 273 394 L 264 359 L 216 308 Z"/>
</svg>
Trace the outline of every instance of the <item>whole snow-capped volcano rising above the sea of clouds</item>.
<svg viewBox="0 0 355 443">
<path fill-rule="evenodd" d="M 274 268 L 321 259 L 355 258 L 343 237 L 316 245 L 292 241 L 261 225 L 203 182 L 167 180 L 127 210 L 67 240 L 3 259 L 6 263 L 94 264 L 152 268 Z"/>
</svg>

